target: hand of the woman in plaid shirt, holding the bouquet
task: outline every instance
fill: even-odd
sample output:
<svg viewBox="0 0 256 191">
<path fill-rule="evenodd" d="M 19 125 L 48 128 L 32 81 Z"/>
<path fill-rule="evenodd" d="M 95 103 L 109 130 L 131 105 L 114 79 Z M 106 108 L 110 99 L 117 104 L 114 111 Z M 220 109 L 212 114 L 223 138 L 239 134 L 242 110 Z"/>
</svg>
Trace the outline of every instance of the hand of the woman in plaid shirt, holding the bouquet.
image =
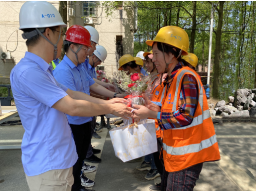
<svg viewBox="0 0 256 191">
<path fill-rule="evenodd" d="M 151 111 L 145 106 L 133 105 L 136 110 L 134 110 L 132 119 L 139 120 L 139 119 L 147 119 L 147 118 L 157 118 L 157 111 Z"/>
</svg>

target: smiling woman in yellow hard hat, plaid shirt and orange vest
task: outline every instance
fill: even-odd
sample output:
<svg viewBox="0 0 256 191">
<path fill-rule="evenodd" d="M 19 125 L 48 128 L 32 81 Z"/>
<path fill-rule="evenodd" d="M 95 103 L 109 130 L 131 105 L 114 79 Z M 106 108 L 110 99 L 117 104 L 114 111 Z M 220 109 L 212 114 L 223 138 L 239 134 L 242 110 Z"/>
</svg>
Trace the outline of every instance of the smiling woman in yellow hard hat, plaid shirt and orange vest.
<svg viewBox="0 0 256 191">
<path fill-rule="evenodd" d="M 220 160 L 207 98 L 197 73 L 184 66 L 181 55 L 188 55 L 189 37 L 185 30 L 167 26 L 153 41 L 157 72 L 168 76 L 161 107 L 133 105 L 133 119 L 157 119 L 163 130 L 160 157 L 164 159 L 161 190 L 193 190 L 203 162 Z"/>
</svg>

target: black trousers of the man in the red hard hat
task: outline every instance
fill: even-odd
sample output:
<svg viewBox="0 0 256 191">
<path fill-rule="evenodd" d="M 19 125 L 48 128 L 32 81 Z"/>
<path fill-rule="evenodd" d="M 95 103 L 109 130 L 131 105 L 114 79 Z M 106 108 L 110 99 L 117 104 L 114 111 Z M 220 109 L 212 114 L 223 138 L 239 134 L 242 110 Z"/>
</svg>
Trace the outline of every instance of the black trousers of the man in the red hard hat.
<svg viewBox="0 0 256 191">
<path fill-rule="evenodd" d="M 83 160 L 86 158 L 87 150 L 91 143 L 91 122 L 81 125 L 70 124 L 70 128 L 74 136 L 78 155 L 77 162 L 73 166 L 74 184 L 72 185 L 72 189 L 77 189 L 81 187 L 80 174 Z"/>
</svg>

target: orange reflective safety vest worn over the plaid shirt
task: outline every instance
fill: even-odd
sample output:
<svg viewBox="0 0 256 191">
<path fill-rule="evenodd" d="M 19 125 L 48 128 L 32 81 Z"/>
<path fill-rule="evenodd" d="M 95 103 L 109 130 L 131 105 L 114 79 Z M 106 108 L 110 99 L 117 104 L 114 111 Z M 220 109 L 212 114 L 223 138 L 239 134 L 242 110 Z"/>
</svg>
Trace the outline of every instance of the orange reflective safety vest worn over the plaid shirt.
<svg viewBox="0 0 256 191">
<path fill-rule="evenodd" d="M 183 67 L 176 73 L 167 94 L 165 90 L 161 112 L 178 110 L 181 84 L 185 74 L 192 74 L 197 80 L 198 106 L 190 125 L 164 130 L 162 149 L 167 172 L 177 172 L 195 164 L 221 159 L 205 91 L 194 70 Z"/>
</svg>

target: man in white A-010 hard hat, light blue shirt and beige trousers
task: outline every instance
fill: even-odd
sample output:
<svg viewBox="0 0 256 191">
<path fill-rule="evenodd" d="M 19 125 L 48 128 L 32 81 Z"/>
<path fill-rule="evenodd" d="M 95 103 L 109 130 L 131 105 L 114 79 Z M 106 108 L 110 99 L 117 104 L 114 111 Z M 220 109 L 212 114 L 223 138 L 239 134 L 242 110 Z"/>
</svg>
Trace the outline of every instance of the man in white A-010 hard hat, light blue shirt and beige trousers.
<svg viewBox="0 0 256 191">
<path fill-rule="evenodd" d="M 10 81 L 25 129 L 21 150 L 29 189 L 70 191 L 77 153 L 65 113 L 88 117 L 114 113 L 124 117 L 132 115 L 131 108 L 105 104 L 104 100 L 71 91 L 54 79 L 48 63 L 60 56 L 65 36 L 61 31 L 67 25 L 52 4 L 24 3 L 19 23 L 28 52 L 11 71 Z"/>
</svg>

